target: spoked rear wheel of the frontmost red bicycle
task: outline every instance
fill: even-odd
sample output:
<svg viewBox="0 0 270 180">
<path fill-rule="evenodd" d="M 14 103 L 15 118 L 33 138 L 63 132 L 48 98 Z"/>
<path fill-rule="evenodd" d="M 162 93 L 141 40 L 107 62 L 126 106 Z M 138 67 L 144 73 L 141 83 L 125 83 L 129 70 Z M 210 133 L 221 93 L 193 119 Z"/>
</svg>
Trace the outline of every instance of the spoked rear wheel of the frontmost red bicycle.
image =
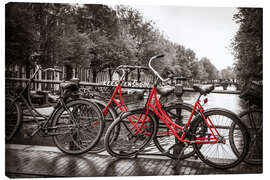
<svg viewBox="0 0 270 180">
<path fill-rule="evenodd" d="M 212 131 L 208 127 L 207 133 L 210 133 L 210 138 L 215 135 L 218 142 L 202 143 L 201 147 L 195 145 L 198 156 L 205 163 L 216 168 L 225 169 L 236 166 L 243 160 L 248 148 L 244 129 L 235 124 L 239 123 L 237 117 L 234 119 L 233 115 L 222 110 L 209 111 L 206 116 L 212 122 L 210 122 Z M 196 133 L 203 126 L 203 123 L 198 121 L 194 123 L 192 129 L 194 128 L 193 131 Z M 232 127 L 234 130 L 232 130 Z M 204 137 L 207 137 L 207 134 Z M 237 149 L 237 153 L 234 149 Z"/>
</svg>

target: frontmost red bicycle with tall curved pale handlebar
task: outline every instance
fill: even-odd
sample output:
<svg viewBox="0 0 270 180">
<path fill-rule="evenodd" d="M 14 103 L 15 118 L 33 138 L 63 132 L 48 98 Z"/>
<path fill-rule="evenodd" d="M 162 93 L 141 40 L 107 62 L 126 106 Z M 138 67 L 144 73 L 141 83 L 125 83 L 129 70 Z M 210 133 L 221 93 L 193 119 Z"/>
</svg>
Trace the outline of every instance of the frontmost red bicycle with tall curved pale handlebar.
<svg viewBox="0 0 270 180">
<path fill-rule="evenodd" d="M 118 158 L 128 158 L 137 156 L 145 150 L 145 147 L 154 139 L 154 143 L 162 153 L 178 156 L 181 159 L 184 150 L 190 145 L 196 151 L 198 157 L 206 164 L 220 169 L 232 168 L 238 165 L 245 158 L 248 151 L 249 137 L 247 130 L 238 116 L 226 109 L 212 108 L 204 110 L 200 103 L 202 95 L 206 96 L 214 86 L 200 88 L 194 86 L 194 90 L 199 92 L 199 97 L 192 107 L 186 103 L 172 103 L 168 107 L 162 107 L 157 92 L 161 95 L 168 95 L 173 92 L 173 88 L 162 89 L 158 87 L 158 82 L 168 81 L 163 79 L 151 66 L 151 61 L 161 56 L 154 56 L 149 61 L 149 68 L 156 75 L 156 81 L 144 108 L 134 109 L 122 113 L 108 128 L 105 135 L 105 147 L 109 154 Z M 154 101 L 152 102 L 152 99 Z M 207 103 L 207 98 L 204 100 Z M 186 110 L 189 112 L 188 120 L 185 125 L 179 125 L 171 114 L 166 112 L 177 112 Z M 187 115 L 182 115 L 184 117 Z M 173 135 L 174 141 L 168 142 L 173 145 L 166 150 L 157 140 L 159 135 L 158 121 L 160 119 L 169 129 L 164 132 L 166 135 Z M 234 132 L 231 132 L 231 125 L 235 124 Z M 113 132 L 116 127 L 120 127 L 117 138 Z M 232 136 L 235 136 L 232 138 Z M 233 143 L 237 152 L 232 149 L 230 142 Z M 185 148 L 178 148 L 179 144 L 185 144 Z"/>
</svg>

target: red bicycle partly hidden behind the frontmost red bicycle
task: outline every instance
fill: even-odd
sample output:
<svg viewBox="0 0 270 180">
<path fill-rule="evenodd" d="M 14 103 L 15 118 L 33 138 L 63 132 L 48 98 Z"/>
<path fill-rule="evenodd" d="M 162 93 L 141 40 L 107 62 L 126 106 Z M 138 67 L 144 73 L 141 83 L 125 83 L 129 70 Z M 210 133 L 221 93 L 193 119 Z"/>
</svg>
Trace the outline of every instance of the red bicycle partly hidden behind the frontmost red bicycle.
<svg viewBox="0 0 270 180">
<path fill-rule="evenodd" d="M 104 99 L 106 99 L 104 96 L 100 97 L 99 95 L 91 94 L 92 96 L 91 100 L 93 100 L 95 103 L 97 103 L 100 106 L 100 108 L 103 111 L 104 119 L 105 119 L 105 126 L 103 129 L 102 136 L 100 137 L 98 144 L 93 149 L 91 149 L 90 151 L 91 153 L 99 153 L 105 150 L 104 136 L 108 127 L 118 117 L 118 115 L 121 112 L 127 112 L 128 110 L 130 110 L 128 109 L 127 104 L 125 104 L 124 102 L 124 98 L 122 95 L 122 83 L 124 82 L 124 79 L 126 76 L 128 76 L 130 73 L 132 73 L 133 71 L 137 69 L 149 71 L 149 68 L 145 66 L 121 65 L 116 68 L 115 72 L 118 72 L 121 77 L 119 78 L 119 81 L 117 82 L 118 84 L 115 89 L 112 89 L 112 87 L 108 87 L 105 90 L 107 94 L 112 94 L 112 96 L 108 100 L 108 103 L 104 102 Z M 185 80 L 182 78 L 175 78 L 175 79 Z M 112 84 L 115 84 L 115 82 Z M 173 89 L 174 89 L 173 87 L 169 87 L 169 88 L 167 87 L 165 89 L 159 89 L 159 91 L 161 91 L 162 93 L 164 91 L 168 91 L 168 90 L 171 91 Z M 165 94 L 163 93 L 163 96 L 167 96 L 167 95 L 169 95 L 167 94 L 167 92 L 165 92 Z M 133 102 L 133 105 L 134 105 L 134 102 Z M 184 118 L 181 119 L 182 117 L 181 115 L 188 114 L 189 109 L 188 110 L 182 109 L 181 115 L 180 115 L 179 114 L 180 110 L 176 108 L 173 106 L 169 106 L 165 109 L 165 111 L 168 114 L 170 114 L 171 118 L 174 118 L 176 122 L 182 122 L 182 121 L 186 122 L 187 121 L 186 119 Z M 194 113 L 198 114 L 198 112 L 194 112 Z M 130 119 L 130 122 L 132 122 L 132 119 Z M 111 141 L 113 141 L 119 136 L 119 132 L 120 132 L 120 126 L 116 126 L 113 130 L 113 133 L 111 133 L 112 134 L 111 136 L 114 136 L 113 138 L 111 138 Z M 171 139 L 173 138 L 172 136 L 173 134 L 170 132 L 170 129 L 165 124 L 163 125 L 161 124 L 159 126 L 159 131 L 157 132 L 157 136 L 155 137 L 155 145 L 160 151 L 163 152 L 164 155 L 167 155 L 171 158 L 177 158 L 178 156 L 175 153 L 167 151 L 167 149 L 171 146 L 170 143 L 168 143 L 168 141 L 172 142 L 171 141 Z M 181 158 L 183 159 L 188 158 L 194 154 L 195 154 L 194 149 L 191 146 L 189 146 L 188 148 L 185 149 Z"/>
</svg>

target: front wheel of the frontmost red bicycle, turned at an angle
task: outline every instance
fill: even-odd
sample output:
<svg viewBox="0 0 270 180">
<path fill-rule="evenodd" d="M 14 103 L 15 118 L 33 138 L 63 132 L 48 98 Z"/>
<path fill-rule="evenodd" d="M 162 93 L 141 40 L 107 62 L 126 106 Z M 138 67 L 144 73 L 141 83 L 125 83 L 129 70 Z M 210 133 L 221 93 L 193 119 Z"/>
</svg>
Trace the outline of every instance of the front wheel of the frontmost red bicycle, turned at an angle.
<svg viewBox="0 0 270 180">
<path fill-rule="evenodd" d="M 158 125 L 151 112 L 147 115 L 145 113 L 145 109 L 123 113 L 110 125 L 105 135 L 105 147 L 110 155 L 129 158 L 137 155 L 149 144 Z M 114 131 L 118 126 L 119 135 L 114 139 Z"/>
</svg>

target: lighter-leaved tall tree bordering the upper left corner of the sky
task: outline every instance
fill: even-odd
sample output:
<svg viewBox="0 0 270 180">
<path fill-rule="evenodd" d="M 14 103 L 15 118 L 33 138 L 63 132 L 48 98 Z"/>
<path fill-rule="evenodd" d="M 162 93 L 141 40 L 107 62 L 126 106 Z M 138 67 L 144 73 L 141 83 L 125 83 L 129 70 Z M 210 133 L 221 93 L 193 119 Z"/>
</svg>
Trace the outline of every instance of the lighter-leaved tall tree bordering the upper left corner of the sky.
<svg viewBox="0 0 270 180">
<path fill-rule="evenodd" d="M 132 55 L 138 64 L 146 65 L 151 56 L 158 52 L 155 42 L 159 32 L 152 21 L 146 21 L 139 11 L 128 6 L 117 6 L 116 12 L 121 27 L 120 36 L 129 40 Z"/>
</svg>

